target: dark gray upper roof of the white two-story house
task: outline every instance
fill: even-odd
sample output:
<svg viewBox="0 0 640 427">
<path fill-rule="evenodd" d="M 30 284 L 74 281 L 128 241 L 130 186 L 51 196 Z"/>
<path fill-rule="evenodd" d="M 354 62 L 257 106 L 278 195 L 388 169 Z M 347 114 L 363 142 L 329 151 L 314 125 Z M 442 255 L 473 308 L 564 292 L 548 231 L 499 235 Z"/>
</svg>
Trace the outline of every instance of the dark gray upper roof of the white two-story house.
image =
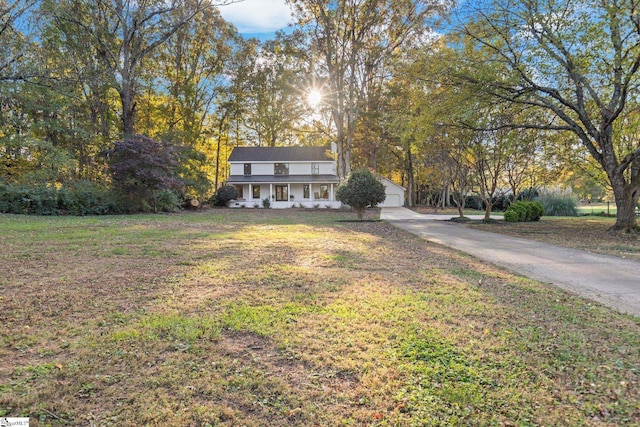
<svg viewBox="0 0 640 427">
<path fill-rule="evenodd" d="M 230 162 L 331 161 L 327 147 L 235 147 Z"/>
</svg>

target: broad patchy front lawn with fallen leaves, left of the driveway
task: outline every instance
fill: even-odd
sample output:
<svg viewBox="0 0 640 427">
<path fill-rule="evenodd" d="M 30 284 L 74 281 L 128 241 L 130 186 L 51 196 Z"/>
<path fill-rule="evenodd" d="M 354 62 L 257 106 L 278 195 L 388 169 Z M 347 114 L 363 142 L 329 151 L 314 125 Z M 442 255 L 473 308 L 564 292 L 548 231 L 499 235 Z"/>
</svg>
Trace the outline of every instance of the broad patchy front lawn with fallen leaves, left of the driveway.
<svg viewBox="0 0 640 427">
<path fill-rule="evenodd" d="M 0 216 L 0 416 L 638 424 L 638 318 L 354 217 Z"/>
</svg>

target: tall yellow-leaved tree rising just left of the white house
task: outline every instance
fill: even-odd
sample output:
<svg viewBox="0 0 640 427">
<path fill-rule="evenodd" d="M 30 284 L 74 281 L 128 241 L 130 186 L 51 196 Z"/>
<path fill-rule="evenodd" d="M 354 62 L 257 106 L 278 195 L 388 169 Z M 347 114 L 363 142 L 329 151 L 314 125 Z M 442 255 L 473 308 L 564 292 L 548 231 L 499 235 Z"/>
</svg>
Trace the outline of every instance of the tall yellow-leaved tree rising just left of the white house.
<svg viewBox="0 0 640 427">
<path fill-rule="evenodd" d="M 211 192 L 214 160 L 219 153 L 213 139 L 218 115 L 225 114 L 219 110 L 226 109 L 223 100 L 232 92 L 233 57 L 242 44 L 235 28 L 217 9 L 209 8 L 179 29 L 153 56 L 157 72 L 151 75 L 153 84 L 149 86 L 155 90 L 149 91 L 150 108 L 141 108 L 140 114 L 159 128 L 163 140 L 183 147 L 180 172 L 187 191 L 196 197 Z"/>
</svg>

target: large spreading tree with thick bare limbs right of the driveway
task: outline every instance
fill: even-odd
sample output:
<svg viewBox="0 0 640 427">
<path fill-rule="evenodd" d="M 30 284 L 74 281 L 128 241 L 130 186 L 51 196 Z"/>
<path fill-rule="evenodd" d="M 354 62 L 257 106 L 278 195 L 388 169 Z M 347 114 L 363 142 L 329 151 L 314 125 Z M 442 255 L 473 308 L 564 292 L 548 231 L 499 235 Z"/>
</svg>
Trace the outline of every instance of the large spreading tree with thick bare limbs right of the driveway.
<svg viewBox="0 0 640 427">
<path fill-rule="evenodd" d="M 498 100 L 549 111 L 529 127 L 573 133 L 606 172 L 617 205 L 613 230 L 635 230 L 640 140 L 616 137 L 638 107 L 640 2 L 637 0 L 495 0 L 476 10 L 461 34 L 502 75 L 471 73 L 467 82 Z"/>
</svg>

